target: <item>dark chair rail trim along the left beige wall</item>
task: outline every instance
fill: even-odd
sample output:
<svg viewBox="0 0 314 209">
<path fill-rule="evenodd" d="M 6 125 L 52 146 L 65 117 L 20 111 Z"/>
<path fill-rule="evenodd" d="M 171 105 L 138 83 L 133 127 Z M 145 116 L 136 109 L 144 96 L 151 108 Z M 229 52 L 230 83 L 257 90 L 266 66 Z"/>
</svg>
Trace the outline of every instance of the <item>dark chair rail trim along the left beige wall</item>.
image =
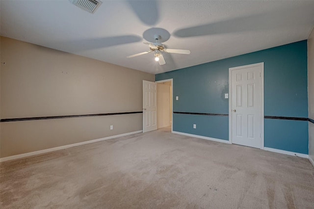
<svg viewBox="0 0 314 209">
<path fill-rule="evenodd" d="M 105 115 L 125 115 L 143 113 L 143 111 L 137 112 L 112 112 L 112 113 L 99 113 L 99 114 L 83 114 L 83 115 L 58 115 L 58 116 L 43 116 L 43 117 L 27 117 L 27 118 L 4 118 L 0 122 L 14 122 L 14 121 L 33 121 L 33 120 L 47 120 L 47 119 L 60 119 L 60 118 L 81 118 L 81 117 L 94 117 Z"/>
</svg>

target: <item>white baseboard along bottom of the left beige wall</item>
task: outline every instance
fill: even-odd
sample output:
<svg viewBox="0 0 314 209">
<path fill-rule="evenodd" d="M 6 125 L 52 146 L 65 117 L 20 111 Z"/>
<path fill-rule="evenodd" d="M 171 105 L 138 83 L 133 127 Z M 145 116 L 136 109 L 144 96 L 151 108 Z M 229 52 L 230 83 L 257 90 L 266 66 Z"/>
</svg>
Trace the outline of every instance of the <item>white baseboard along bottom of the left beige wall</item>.
<svg viewBox="0 0 314 209">
<path fill-rule="evenodd" d="M 35 152 L 24 153 L 24 154 L 15 155 L 15 156 L 9 156 L 9 157 L 2 157 L 2 158 L 0 158 L 0 162 L 7 161 L 10 159 L 17 159 L 17 158 L 21 158 L 21 157 L 28 157 L 28 156 L 34 156 L 34 155 L 43 154 L 43 153 L 49 153 L 52 151 L 63 150 L 63 149 L 71 148 L 71 147 L 77 147 L 77 146 L 84 145 L 84 144 L 95 143 L 95 142 L 99 142 L 99 141 L 104 141 L 104 140 L 108 140 L 108 139 L 113 139 L 113 138 L 117 138 L 117 137 L 121 137 L 121 136 L 131 135 L 134 133 L 141 133 L 141 132 L 143 132 L 143 131 L 142 130 L 133 131 L 133 132 L 122 133 L 122 134 L 118 134 L 118 135 L 114 135 L 114 136 L 107 136 L 107 137 L 100 138 L 100 139 L 83 141 L 83 142 L 78 142 L 75 144 L 68 144 L 68 145 L 64 145 L 64 146 L 60 146 L 60 147 L 53 147 L 53 148 L 49 148 L 46 150 L 39 150 L 39 151 L 35 151 Z"/>
</svg>

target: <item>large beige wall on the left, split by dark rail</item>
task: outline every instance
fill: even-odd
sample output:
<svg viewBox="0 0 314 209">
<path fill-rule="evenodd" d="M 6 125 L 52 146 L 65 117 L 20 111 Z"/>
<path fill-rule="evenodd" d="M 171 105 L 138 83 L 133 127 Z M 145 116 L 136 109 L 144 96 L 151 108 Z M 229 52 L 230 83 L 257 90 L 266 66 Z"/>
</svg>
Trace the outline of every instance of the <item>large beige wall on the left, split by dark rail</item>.
<svg viewBox="0 0 314 209">
<path fill-rule="evenodd" d="M 153 74 L 1 37 L 3 118 L 142 111 Z M 109 130 L 113 125 L 113 130 Z M 2 122 L 0 157 L 142 130 L 142 114 Z"/>
</svg>

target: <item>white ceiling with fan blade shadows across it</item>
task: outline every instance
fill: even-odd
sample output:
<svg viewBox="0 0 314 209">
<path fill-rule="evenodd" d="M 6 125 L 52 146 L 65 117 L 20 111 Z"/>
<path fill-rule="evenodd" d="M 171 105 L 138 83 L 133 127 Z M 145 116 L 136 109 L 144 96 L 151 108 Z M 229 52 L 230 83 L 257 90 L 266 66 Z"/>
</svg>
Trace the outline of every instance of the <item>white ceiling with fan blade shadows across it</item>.
<svg viewBox="0 0 314 209">
<path fill-rule="evenodd" d="M 103 0 L 95 14 L 70 0 L 0 0 L 0 16 L 2 36 L 157 74 L 305 40 L 314 0 Z M 153 53 L 127 58 L 149 51 L 151 28 L 170 33 L 167 48 L 191 54 L 164 53 L 161 66 Z"/>
</svg>

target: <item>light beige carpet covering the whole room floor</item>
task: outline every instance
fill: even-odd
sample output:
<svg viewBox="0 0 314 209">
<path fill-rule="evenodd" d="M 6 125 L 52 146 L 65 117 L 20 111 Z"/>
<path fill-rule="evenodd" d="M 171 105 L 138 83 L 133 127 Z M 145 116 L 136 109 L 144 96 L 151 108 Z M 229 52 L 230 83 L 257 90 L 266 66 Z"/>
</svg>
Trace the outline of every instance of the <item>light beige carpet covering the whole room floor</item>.
<svg viewBox="0 0 314 209">
<path fill-rule="evenodd" d="M 0 164 L 0 208 L 314 208 L 308 159 L 169 129 Z"/>
</svg>

